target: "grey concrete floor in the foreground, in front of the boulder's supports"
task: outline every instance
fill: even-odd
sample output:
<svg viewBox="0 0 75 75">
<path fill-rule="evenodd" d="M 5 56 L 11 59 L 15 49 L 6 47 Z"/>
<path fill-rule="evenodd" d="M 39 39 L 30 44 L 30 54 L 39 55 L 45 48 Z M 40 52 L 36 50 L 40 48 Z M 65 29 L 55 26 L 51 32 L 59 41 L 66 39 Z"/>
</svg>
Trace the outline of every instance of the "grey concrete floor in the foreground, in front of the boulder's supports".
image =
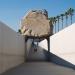
<svg viewBox="0 0 75 75">
<path fill-rule="evenodd" d="M 75 70 L 50 62 L 27 62 L 2 75 L 75 75 Z"/>
</svg>

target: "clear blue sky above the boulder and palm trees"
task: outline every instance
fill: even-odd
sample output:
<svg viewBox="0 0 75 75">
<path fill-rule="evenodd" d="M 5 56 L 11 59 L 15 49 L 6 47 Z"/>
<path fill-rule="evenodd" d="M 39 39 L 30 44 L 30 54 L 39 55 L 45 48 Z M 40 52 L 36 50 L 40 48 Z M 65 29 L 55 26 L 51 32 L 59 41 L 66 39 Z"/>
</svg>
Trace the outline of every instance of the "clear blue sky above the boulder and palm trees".
<svg viewBox="0 0 75 75">
<path fill-rule="evenodd" d="M 75 9 L 75 0 L 0 0 L 0 21 L 17 31 L 20 20 L 30 9 L 46 9 L 51 17 L 70 7 Z"/>
</svg>

